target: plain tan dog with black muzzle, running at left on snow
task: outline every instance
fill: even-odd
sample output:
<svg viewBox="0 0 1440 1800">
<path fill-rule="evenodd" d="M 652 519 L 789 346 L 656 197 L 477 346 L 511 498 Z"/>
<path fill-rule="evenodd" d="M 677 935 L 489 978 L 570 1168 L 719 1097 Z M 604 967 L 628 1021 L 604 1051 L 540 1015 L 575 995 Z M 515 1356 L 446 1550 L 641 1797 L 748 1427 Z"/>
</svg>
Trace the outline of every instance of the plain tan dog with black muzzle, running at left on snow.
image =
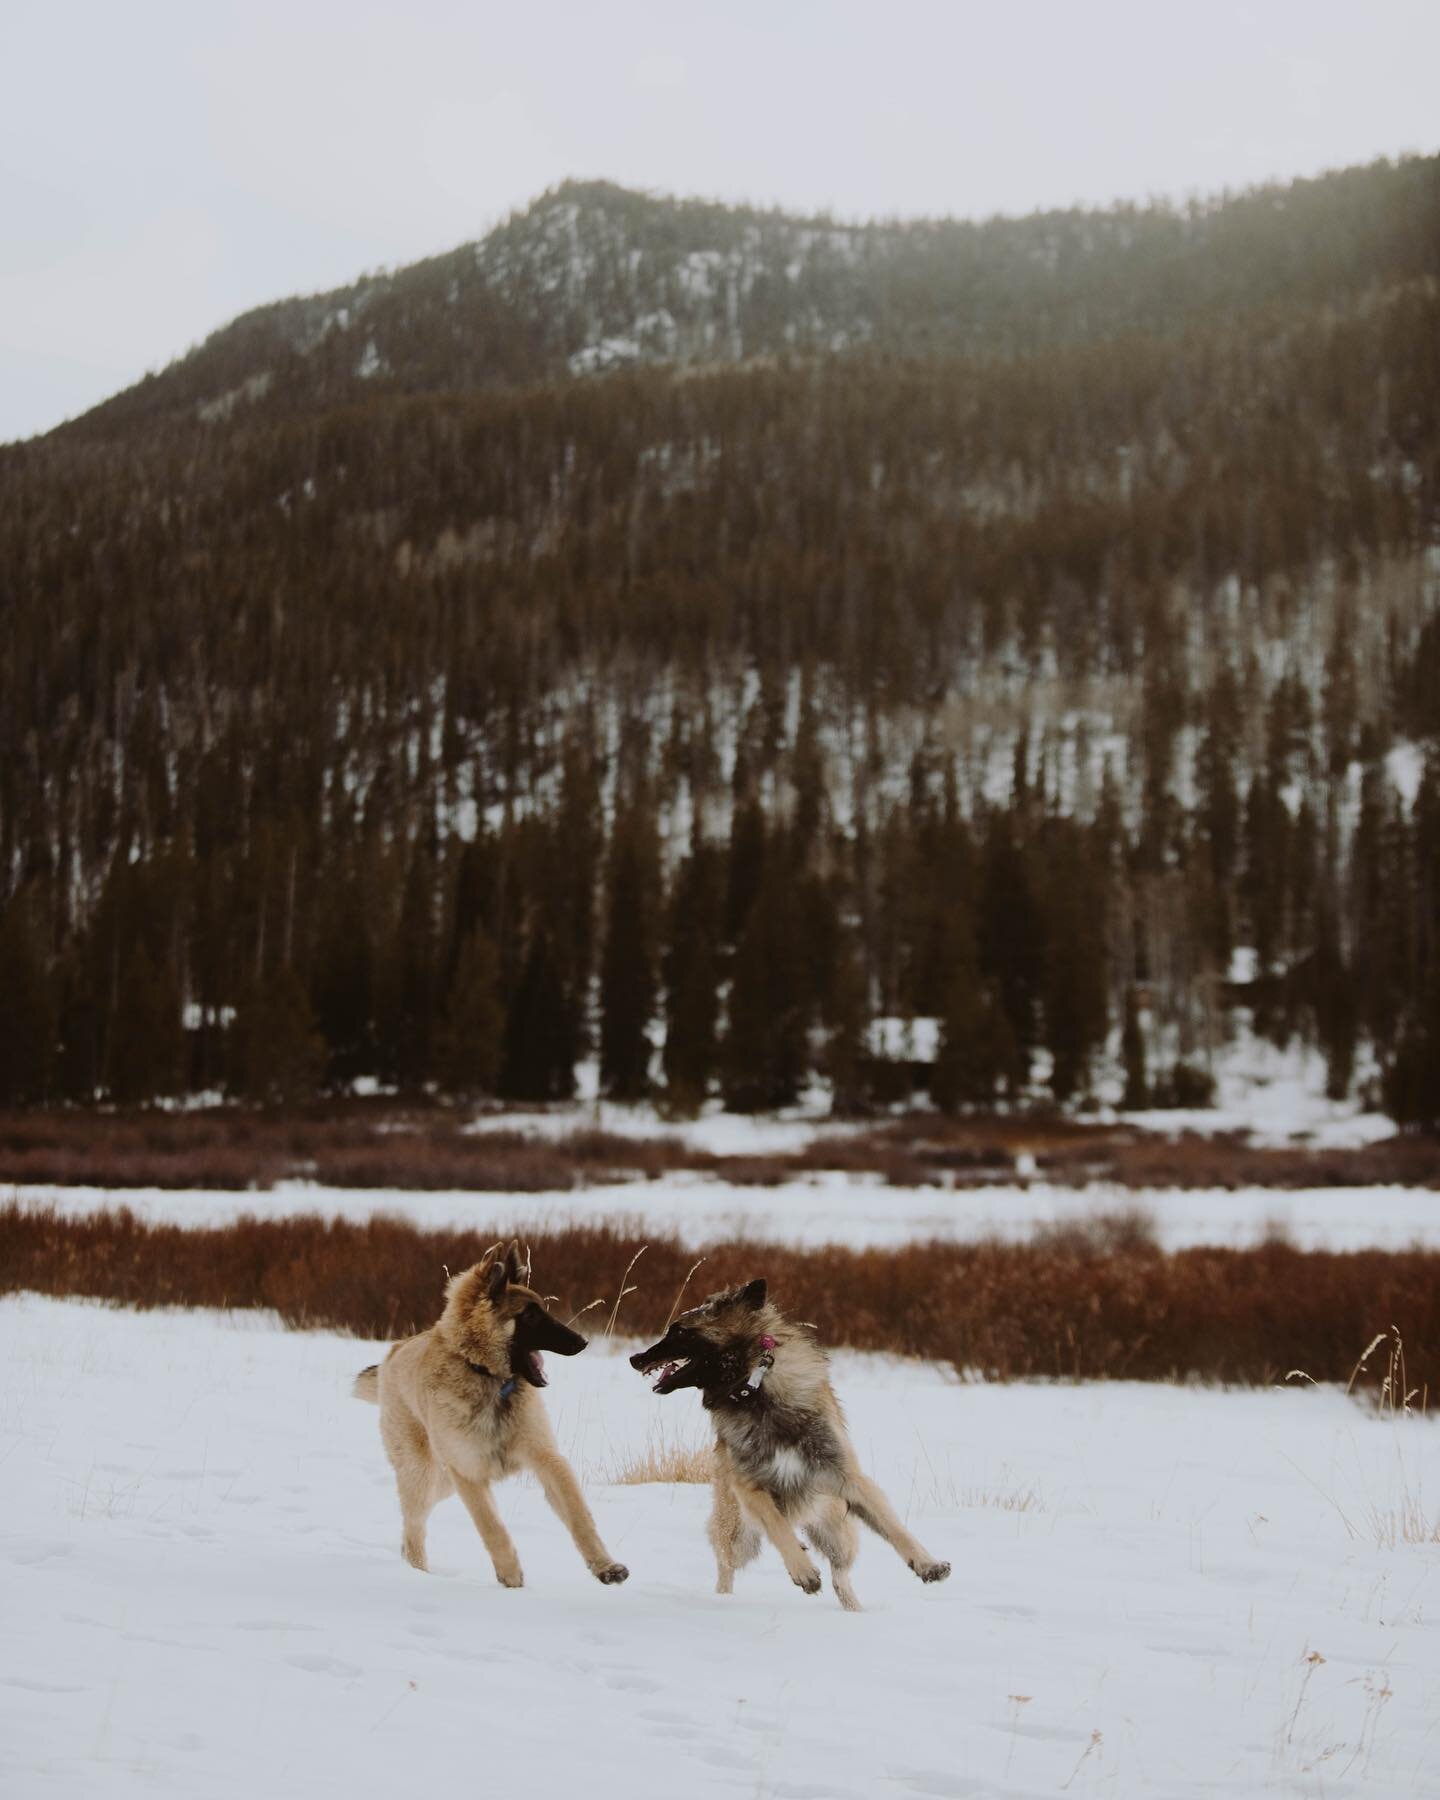
<svg viewBox="0 0 1440 1800">
<path fill-rule="evenodd" d="M 576 1355 L 585 1339 L 545 1312 L 527 1278 L 517 1244 L 504 1256 L 490 1253 L 452 1276 L 437 1325 L 394 1345 L 383 1363 L 355 1379 L 355 1397 L 380 1406 L 380 1436 L 405 1521 L 401 1555 L 412 1568 L 427 1566 L 425 1521 L 446 1494 L 459 1494 L 500 1586 L 522 1588 L 526 1577 L 495 1510 L 491 1483 L 529 1469 L 589 1571 L 621 1582 L 630 1571 L 599 1541 L 533 1391 L 545 1386 L 540 1352 Z"/>
</svg>

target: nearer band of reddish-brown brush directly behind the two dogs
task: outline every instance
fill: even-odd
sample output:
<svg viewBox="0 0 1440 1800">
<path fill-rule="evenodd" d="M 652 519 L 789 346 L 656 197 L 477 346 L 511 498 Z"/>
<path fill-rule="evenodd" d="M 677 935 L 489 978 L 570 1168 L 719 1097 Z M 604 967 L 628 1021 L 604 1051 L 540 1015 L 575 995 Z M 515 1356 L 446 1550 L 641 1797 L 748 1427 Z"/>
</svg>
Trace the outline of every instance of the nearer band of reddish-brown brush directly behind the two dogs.
<svg viewBox="0 0 1440 1800">
<path fill-rule="evenodd" d="M 400 1337 L 430 1325 L 445 1267 L 499 1235 L 419 1231 L 401 1219 L 241 1219 L 185 1229 L 130 1211 L 67 1219 L 0 1208 L 0 1289 L 133 1307 L 270 1307 L 295 1327 Z M 536 1280 L 565 1318 L 621 1287 L 625 1325 L 657 1336 L 695 1253 L 612 1224 L 522 1231 Z M 644 1242 L 644 1258 L 634 1258 Z M 713 1244 L 704 1287 L 765 1274 L 821 1339 L 923 1355 L 986 1379 L 1129 1377 L 1269 1384 L 1303 1368 L 1345 1382 L 1355 1346 L 1395 1323 L 1408 1382 L 1440 1373 L 1440 1253 L 1255 1249 L 1161 1253 L 1134 1220 L 1030 1244 L 794 1249 Z M 625 1282 L 634 1267 L 634 1283 Z M 596 1318 L 592 1314 L 592 1318 Z M 1381 1384 L 1379 1372 L 1357 1377 Z"/>
</svg>

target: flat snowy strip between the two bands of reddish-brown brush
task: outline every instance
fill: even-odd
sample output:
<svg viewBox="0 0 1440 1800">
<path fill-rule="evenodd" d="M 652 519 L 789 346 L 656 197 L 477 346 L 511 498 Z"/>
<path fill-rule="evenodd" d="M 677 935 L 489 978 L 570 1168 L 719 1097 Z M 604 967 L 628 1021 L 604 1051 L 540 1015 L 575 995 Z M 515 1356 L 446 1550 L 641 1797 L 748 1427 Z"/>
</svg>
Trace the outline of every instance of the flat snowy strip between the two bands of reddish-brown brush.
<svg viewBox="0 0 1440 1800">
<path fill-rule="evenodd" d="M 625 1222 L 639 1233 L 702 1246 L 725 1238 L 770 1244 L 893 1246 L 941 1238 L 1019 1242 L 1039 1229 L 1103 1213 L 1139 1211 L 1166 1249 L 1192 1244 L 1258 1244 L 1280 1233 L 1298 1249 L 1440 1247 L 1440 1192 L 1433 1188 L 1163 1188 L 1096 1184 L 1055 1188 L 1040 1181 L 988 1188 L 896 1188 L 878 1177 L 817 1174 L 774 1188 L 743 1188 L 675 1174 L 553 1193 L 421 1193 L 385 1188 L 320 1188 L 281 1183 L 268 1192 L 167 1188 L 20 1190 L 31 1206 L 83 1215 L 128 1206 L 140 1219 L 184 1226 L 221 1224 L 248 1213 L 286 1219 L 373 1219 L 389 1213 L 436 1229 L 556 1229 L 576 1222 Z"/>
</svg>

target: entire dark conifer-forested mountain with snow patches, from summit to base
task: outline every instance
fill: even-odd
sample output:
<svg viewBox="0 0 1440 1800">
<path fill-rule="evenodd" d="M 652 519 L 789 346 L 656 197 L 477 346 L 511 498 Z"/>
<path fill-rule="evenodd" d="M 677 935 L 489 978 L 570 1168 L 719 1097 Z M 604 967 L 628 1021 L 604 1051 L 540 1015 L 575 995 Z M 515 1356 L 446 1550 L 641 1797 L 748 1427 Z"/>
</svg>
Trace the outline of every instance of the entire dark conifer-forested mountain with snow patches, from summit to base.
<svg viewBox="0 0 1440 1800">
<path fill-rule="evenodd" d="M 1244 999 L 1433 1118 L 1438 421 L 1440 158 L 985 225 L 567 184 L 247 315 L 0 450 L 0 1094 L 596 1037 L 859 1103 L 898 1013 L 949 1103 L 1123 1022 L 1139 1098 Z"/>
</svg>

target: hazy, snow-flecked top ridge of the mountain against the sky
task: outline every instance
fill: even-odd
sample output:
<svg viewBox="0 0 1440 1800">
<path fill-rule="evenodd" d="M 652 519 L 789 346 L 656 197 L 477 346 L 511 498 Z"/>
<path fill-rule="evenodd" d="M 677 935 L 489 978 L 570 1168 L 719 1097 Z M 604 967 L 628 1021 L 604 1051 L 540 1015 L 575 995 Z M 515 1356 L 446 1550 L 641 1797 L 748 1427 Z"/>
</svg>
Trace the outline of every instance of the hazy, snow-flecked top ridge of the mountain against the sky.
<svg viewBox="0 0 1440 1800">
<path fill-rule="evenodd" d="M 1368 272 L 1368 274 L 1366 274 Z M 947 355 L 1174 335 L 1206 313 L 1440 277 L 1440 157 L 1177 207 L 837 221 L 567 180 L 488 234 L 270 301 L 58 427 L 218 425 L 634 365 Z"/>
</svg>

